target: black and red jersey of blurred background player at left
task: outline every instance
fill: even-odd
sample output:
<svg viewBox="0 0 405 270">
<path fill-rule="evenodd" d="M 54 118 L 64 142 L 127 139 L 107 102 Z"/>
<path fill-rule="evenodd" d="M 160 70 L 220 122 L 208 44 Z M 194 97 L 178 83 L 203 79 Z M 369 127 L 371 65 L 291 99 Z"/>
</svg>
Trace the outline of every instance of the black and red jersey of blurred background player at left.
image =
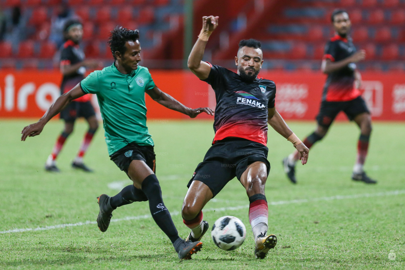
<svg viewBox="0 0 405 270">
<path fill-rule="evenodd" d="M 64 43 L 62 51 L 60 52 L 60 65 L 74 65 L 84 60 L 84 52 L 80 49 L 79 45 L 74 43 L 72 40 L 68 40 Z M 75 87 L 81 80 L 84 79 L 84 73 L 86 68 L 84 66 L 80 67 L 75 73 L 64 75 L 62 83 L 60 85 L 61 94 L 64 94 L 73 87 Z M 87 102 L 90 101 L 90 94 L 81 96 L 75 99 L 77 102 Z"/>
</svg>

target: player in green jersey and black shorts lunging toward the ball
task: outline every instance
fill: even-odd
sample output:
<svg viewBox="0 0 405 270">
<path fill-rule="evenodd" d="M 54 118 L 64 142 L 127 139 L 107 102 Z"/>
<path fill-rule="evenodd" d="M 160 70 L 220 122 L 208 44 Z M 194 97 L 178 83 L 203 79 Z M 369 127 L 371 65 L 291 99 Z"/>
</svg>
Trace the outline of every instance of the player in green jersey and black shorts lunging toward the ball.
<svg viewBox="0 0 405 270">
<path fill-rule="evenodd" d="M 153 141 L 146 126 L 145 93 L 167 108 L 192 118 L 209 108 L 191 109 L 162 92 L 153 83 L 148 69 L 139 66 L 141 45 L 138 30 L 115 28 L 109 38 L 115 62 L 103 70 L 96 70 L 70 91 L 60 96 L 37 122 L 21 132 L 21 140 L 39 135 L 44 125 L 72 100 L 85 94 L 97 94 L 105 130 L 105 140 L 111 160 L 133 181 L 116 196 L 98 197 L 100 212 L 98 227 L 105 232 L 115 208 L 132 202 L 149 201 L 152 217 L 170 238 L 180 259 L 190 259 L 202 243 L 185 242 L 177 234 L 170 213 L 164 206 L 159 181 L 155 175 Z"/>
</svg>

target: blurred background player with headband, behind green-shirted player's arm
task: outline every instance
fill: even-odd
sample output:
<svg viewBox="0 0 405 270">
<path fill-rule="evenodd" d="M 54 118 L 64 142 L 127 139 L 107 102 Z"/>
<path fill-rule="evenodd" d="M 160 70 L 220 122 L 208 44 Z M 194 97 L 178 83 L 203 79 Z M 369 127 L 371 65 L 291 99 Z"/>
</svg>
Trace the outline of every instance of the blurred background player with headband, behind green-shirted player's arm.
<svg viewBox="0 0 405 270">
<path fill-rule="evenodd" d="M 95 61 L 84 60 L 84 53 L 79 48 L 79 43 L 83 37 L 83 27 L 80 21 L 67 21 L 64 26 L 64 35 L 66 42 L 63 45 L 60 55 L 60 71 L 63 74 L 62 84 L 60 86 L 61 94 L 66 93 L 84 79 L 86 67 L 96 68 L 98 66 Z M 87 123 L 89 123 L 89 130 L 83 138 L 79 152 L 72 162 L 72 167 L 86 172 L 92 171 L 83 163 L 83 156 L 98 128 L 96 113 L 94 112 L 90 99 L 90 94 L 77 98 L 60 113 L 60 118 L 65 122 L 64 130 L 58 140 L 56 140 L 52 153 L 45 163 L 45 170 L 59 172 L 59 168 L 56 166 L 56 158 L 62 150 L 66 138 L 72 133 L 76 118 L 84 117 Z"/>
</svg>

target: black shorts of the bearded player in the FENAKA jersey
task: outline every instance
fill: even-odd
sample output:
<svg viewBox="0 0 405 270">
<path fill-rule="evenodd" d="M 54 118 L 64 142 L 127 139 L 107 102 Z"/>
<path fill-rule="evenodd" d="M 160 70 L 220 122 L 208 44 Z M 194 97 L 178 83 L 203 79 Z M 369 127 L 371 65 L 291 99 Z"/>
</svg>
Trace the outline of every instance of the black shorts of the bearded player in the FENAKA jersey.
<svg viewBox="0 0 405 270">
<path fill-rule="evenodd" d="M 256 161 L 266 164 L 269 175 L 268 153 L 269 149 L 266 146 L 251 140 L 243 138 L 219 140 L 208 149 L 187 187 L 190 187 L 194 180 L 201 181 L 211 189 L 215 197 L 235 176 L 240 181 L 243 172 Z"/>
</svg>

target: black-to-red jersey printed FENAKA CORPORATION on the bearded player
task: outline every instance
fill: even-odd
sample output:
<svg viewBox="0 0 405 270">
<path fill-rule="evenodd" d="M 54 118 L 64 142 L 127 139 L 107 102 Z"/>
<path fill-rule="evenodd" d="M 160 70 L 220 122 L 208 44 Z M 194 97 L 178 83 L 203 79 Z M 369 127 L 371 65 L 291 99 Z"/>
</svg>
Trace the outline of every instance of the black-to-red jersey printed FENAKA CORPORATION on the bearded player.
<svg viewBox="0 0 405 270">
<path fill-rule="evenodd" d="M 274 108 L 275 83 L 259 77 L 244 81 L 235 72 L 216 65 L 211 65 L 203 81 L 212 86 L 217 101 L 213 144 L 226 137 L 239 137 L 266 145 L 267 109 Z"/>
</svg>

